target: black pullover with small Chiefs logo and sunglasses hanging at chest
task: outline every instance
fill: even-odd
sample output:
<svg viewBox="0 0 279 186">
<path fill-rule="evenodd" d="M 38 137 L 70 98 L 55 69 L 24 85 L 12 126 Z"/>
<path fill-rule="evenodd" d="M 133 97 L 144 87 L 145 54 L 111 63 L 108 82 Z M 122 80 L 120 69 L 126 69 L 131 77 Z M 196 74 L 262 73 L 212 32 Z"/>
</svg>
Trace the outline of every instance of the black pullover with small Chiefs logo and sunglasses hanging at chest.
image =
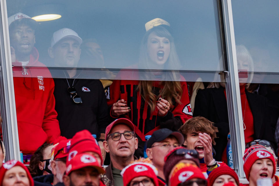
<svg viewBox="0 0 279 186">
<path fill-rule="evenodd" d="M 65 73 L 67 75 L 67 73 Z M 72 138 L 76 132 L 87 129 L 97 138 L 108 126 L 107 102 L 101 81 L 92 79 L 55 78 L 55 110 L 61 136 Z M 74 82 L 74 83 L 73 83 Z M 76 89 L 83 103 L 74 103 L 68 92 L 69 85 Z"/>
</svg>

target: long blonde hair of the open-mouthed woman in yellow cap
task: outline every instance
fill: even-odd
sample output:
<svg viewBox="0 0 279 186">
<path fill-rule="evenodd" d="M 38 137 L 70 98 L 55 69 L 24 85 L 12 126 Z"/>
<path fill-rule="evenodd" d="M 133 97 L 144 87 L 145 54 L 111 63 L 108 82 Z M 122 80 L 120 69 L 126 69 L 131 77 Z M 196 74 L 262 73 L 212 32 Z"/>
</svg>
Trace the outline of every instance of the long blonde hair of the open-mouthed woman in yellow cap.
<svg viewBox="0 0 279 186">
<path fill-rule="evenodd" d="M 139 67 L 142 69 L 150 69 L 150 61 L 148 56 L 148 47 L 147 47 L 147 40 L 148 36 L 151 33 L 155 33 L 159 37 L 166 37 L 170 41 L 170 54 L 169 57 L 165 63 L 166 69 L 173 69 L 180 68 L 180 60 L 178 58 L 178 55 L 176 53 L 176 48 L 174 45 L 174 38 L 171 36 L 169 31 L 164 28 L 163 26 L 156 26 L 149 31 L 147 31 L 142 39 L 141 47 L 140 47 L 140 62 Z M 162 80 L 160 83 L 163 86 L 162 90 L 160 90 L 159 95 L 157 96 L 155 94 L 155 89 L 153 87 L 153 81 L 144 81 L 145 79 L 154 79 L 152 76 L 152 73 L 144 73 L 142 74 L 141 80 L 138 85 L 138 91 L 140 92 L 140 95 L 143 97 L 144 101 L 148 103 L 148 105 L 151 108 L 151 112 L 155 110 L 155 103 L 158 98 L 163 98 L 170 103 L 170 108 L 173 108 L 175 103 L 181 103 L 181 96 L 182 96 L 182 88 L 181 84 L 179 82 L 180 75 L 177 73 L 174 73 L 173 71 L 165 72 L 162 75 Z M 164 81 L 168 80 L 168 81 Z"/>
</svg>

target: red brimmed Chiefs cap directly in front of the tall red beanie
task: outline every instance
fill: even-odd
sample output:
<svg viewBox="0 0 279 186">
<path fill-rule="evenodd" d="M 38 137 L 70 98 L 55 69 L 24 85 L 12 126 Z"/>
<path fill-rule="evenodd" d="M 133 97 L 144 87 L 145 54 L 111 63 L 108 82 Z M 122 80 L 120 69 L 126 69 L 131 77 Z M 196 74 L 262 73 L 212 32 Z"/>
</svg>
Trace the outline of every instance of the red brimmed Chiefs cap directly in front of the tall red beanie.
<svg viewBox="0 0 279 186">
<path fill-rule="evenodd" d="M 94 167 L 97 169 L 99 174 L 105 173 L 105 170 L 101 167 L 98 160 L 94 156 L 85 153 L 76 155 L 70 161 L 67 159 L 66 166 L 67 175 L 69 175 L 71 171 L 75 171 L 83 167 Z"/>
</svg>

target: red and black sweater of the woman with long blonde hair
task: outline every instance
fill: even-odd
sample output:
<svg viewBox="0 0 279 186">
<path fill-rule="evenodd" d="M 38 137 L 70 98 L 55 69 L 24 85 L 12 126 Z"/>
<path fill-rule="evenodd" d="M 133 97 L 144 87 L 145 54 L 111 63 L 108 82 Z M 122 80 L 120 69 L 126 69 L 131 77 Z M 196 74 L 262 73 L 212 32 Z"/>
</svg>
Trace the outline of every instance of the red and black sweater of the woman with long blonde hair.
<svg viewBox="0 0 279 186">
<path fill-rule="evenodd" d="M 127 77 L 128 75 L 125 74 Z M 130 76 L 133 78 L 133 75 Z M 140 92 L 137 91 L 139 81 L 137 80 L 114 80 L 110 86 L 108 105 L 116 103 L 120 99 L 127 101 L 128 107 L 131 111 L 124 117 L 130 119 L 135 125 L 135 133 L 142 141 L 145 141 L 145 135 L 152 135 L 155 130 L 160 128 L 169 128 L 171 130 L 178 130 L 187 119 L 192 118 L 192 110 L 188 96 L 188 89 L 185 80 L 181 77 L 181 87 L 183 90 L 181 104 L 176 103 L 174 108 L 169 110 L 167 115 L 160 117 L 158 110 L 155 109 L 152 113 L 148 103 L 144 101 Z M 155 92 L 163 88 L 159 81 L 154 81 L 153 86 Z M 154 103 L 155 104 L 155 103 Z"/>
</svg>

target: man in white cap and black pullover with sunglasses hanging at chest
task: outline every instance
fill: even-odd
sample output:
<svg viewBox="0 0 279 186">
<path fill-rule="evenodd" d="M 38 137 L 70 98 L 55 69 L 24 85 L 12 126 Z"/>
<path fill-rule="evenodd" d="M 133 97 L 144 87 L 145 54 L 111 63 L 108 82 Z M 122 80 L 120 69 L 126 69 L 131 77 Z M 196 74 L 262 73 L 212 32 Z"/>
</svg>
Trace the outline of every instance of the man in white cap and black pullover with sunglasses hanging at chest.
<svg viewBox="0 0 279 186">
<path fill-rule="evenodd" d="M 72 138 L 76 132 L 87 129 L 96 134 L 102 154 L 105 128 L 108 126 L 107 103 L 101 81 L 78 79 L 83 73 L 77 70 L 81 55 L 82 39 L 70 28 L 62 28 L 53 33 L 49 56 L 57 67 L 67 67 L 59 71 L 65 78 L 55 78 L 55 110 L 61 135 Z"/>
</svg>

